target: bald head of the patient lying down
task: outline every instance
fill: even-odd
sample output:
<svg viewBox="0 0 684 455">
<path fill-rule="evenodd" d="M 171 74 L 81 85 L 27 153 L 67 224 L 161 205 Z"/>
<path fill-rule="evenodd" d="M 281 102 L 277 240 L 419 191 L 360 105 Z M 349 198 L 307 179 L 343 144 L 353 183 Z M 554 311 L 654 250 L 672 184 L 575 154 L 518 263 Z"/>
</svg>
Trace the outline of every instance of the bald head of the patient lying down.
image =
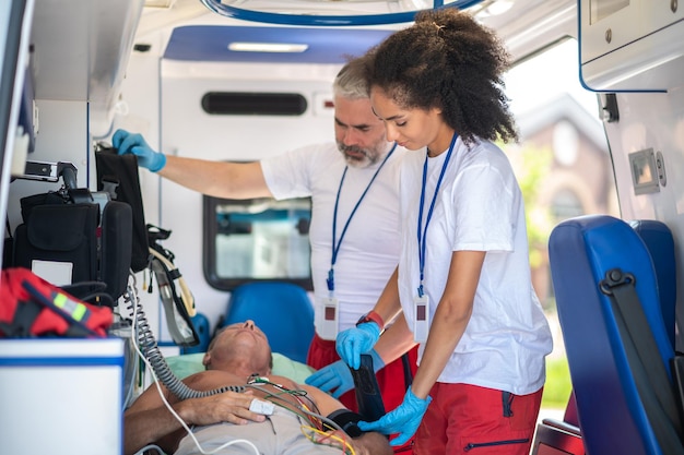
<svg viewBox="0 0 684 455">
<path fill-rule="evenodd" d="M 209 344 L 202 363 L 208 370 L 244 376 L 268 375 L 273 367 L 269 339 L 251 320 L 223 327 Z"/>
</svg>

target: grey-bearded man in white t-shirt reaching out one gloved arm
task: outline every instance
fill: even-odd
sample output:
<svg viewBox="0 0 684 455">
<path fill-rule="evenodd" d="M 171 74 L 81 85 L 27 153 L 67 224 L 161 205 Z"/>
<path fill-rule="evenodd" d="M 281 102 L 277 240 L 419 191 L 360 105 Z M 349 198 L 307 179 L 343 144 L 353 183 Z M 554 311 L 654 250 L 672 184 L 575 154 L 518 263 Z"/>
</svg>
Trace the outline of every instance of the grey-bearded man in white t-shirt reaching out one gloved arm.
<svg viewBox="0 0 684 455">
<path fill-rule="evenodd" d="M 370 107 L 362 59 L 347 62 L 333 83 L 337 145 L 307 146 L 253 163 L 216 163 L 166 156 L 140 134 L 123 130 L 111 140 L 119 154 L 132 153 L 140 166 L 208 195 L 311 197 L 316 336 L 307 363 L 319 371 L 306 382 L 331 392 L 353 410 L 357 410 L 354 383 L 339 360 L 335 336 L 359 322 L 375 321 L 380 327 L 391 322 L 370 310 L 399 260 L 398 169 L 405 153 L 385 139 L 385 125 Z M 410 333 L 403 315 L 394 324 L 392 337 Z M 401 404 L 409 385 L 404 378 L 416 370 L 412 346 L 410 336 L 381 337 L 370 352 L 386 409 Z M 401 357 L 405 351 L 409 355 Z M 382 359 L 393 361 L 384 367 Z"/>
</svg>

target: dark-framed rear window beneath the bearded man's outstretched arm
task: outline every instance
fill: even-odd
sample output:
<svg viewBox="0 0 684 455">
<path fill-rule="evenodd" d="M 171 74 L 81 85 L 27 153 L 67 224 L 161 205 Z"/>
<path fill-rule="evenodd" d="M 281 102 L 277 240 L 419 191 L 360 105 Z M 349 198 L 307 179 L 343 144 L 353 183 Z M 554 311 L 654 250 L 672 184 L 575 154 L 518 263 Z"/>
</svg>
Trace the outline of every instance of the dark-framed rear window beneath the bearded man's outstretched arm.
<svg viewBox="0 0 684 455">
<path fill-rule="evenodd" d="M 310 199 L 245 201 L 204 196 L 204 275 L 232 290 L 253 280 L 286 280 L 310 290 Z"/>
</svg>

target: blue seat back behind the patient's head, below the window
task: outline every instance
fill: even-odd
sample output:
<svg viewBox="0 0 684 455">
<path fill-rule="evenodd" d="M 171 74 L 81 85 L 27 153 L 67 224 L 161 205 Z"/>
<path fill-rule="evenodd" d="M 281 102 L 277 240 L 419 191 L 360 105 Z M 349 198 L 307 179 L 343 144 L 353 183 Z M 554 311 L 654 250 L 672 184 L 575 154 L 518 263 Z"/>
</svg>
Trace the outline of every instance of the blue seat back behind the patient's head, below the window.
<svg viewBox="0 0 684 455">
<path fill-rule="evenodd" d="M 306 290 L 292 283 L 253 282 L 233 289 L 222 326 L 252 320 L 273 352 L 306 362 L 314 338 L 314 307 Z"/>
</svg>

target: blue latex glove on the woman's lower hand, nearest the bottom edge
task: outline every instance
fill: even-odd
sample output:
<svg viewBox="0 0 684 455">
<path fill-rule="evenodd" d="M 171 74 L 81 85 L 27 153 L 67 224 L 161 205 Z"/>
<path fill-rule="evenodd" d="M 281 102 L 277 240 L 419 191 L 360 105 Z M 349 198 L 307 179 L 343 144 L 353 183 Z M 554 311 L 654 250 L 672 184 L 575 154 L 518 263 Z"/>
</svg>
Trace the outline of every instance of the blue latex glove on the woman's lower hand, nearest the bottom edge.
<svg viewBox="0 0 684 455">
<path fill-rule="evenodd" d="M 399 433 L 389 444 L 392 446 L 403 445 L 415 434 L 427 410 L 427 405 L 432 400 L 432 396 L 425 399 L 418 398 L 413 395 L 411 387 L 409 387 L 404 400 L 397 409 L 386 414 L 375 422 L 358 422 L 358 428 L 361 431 L 378 431 L 384 434 Z"/>
</svg>

